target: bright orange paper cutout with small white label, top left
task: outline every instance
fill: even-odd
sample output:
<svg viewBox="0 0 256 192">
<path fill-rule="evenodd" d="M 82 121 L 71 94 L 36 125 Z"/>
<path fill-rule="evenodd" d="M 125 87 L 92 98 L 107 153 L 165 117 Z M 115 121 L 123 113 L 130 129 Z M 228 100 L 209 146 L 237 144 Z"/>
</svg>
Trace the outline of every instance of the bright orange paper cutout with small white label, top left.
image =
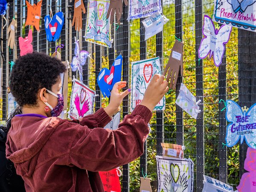
<svg viewBox="0 0 256 192">
<path fill-rule="evenodd" d="M 37 31 L 40 31 L 39 23 L 40 23 L 40 17 L 41 17 L 42 0 L 34 5 L 31 5 L 28 1 L 26 1 L 26 5 L 27 5 L 28 12 L 27 12 L 25 26 L 33 25 L 35 26 L 35 29 Z"/>
</svg>

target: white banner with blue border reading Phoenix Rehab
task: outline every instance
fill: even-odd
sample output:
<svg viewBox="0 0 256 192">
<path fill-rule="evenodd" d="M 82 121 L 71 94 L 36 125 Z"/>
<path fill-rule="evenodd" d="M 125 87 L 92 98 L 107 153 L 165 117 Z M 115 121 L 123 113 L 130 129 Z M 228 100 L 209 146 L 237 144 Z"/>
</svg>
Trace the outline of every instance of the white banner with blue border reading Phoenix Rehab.
<svg viewBox="0 0 256 192">
<path fill-rule="evenodd" d="M 214 20 L 255 32 L 256 0 L 214 0 Z"/>
</svg>

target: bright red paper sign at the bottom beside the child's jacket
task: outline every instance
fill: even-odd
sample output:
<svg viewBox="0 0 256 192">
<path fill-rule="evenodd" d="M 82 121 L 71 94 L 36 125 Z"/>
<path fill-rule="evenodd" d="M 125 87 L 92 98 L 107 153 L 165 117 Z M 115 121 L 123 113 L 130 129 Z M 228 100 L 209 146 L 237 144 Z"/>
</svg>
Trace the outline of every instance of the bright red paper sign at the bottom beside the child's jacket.
<svg viewBox="0 0 256 192">
<path fill-rule="evenodd" d="M 108 172 L 99 172 L 105 192 L 121 192 L 119 177 L 122 173 L 120 174 L 119 172 L 119 168 Z"/>
</svg>

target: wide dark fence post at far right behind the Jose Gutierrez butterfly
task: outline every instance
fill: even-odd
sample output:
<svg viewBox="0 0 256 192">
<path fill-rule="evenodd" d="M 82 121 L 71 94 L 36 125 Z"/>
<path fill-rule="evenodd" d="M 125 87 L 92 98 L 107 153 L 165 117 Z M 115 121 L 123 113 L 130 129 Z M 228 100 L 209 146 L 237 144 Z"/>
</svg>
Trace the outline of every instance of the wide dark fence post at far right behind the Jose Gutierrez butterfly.
<svg viewBox="0 0 256 192">
<path fill-rule="evenodd" d="M 256 103 L 256 34 L 254 32 L 238 29 L 238 78 L 239 78 L 239 105 L 247 106 Z M 250 53 L 250 54 L 248 54 Z M 239 147 L 239 174 L 244 171 L 248 145 L 245 141 Z"/>
</svg>

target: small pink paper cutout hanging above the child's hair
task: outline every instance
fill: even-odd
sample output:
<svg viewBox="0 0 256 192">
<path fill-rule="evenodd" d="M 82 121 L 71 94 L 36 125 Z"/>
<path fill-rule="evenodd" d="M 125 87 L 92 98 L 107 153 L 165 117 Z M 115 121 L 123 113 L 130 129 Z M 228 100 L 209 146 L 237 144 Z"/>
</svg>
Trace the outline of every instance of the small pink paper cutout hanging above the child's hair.
<svg viewBox="0 0 256 192">
<path fill-rule="evenodd" d="M 33 52 L 33 46 L 31 44 L 32 41 L 32 29 L 29 29 L 29 35 L 27 37 L 19 37 L 20 56 L 26 55 L 29 52 Z"/>
</svg>

